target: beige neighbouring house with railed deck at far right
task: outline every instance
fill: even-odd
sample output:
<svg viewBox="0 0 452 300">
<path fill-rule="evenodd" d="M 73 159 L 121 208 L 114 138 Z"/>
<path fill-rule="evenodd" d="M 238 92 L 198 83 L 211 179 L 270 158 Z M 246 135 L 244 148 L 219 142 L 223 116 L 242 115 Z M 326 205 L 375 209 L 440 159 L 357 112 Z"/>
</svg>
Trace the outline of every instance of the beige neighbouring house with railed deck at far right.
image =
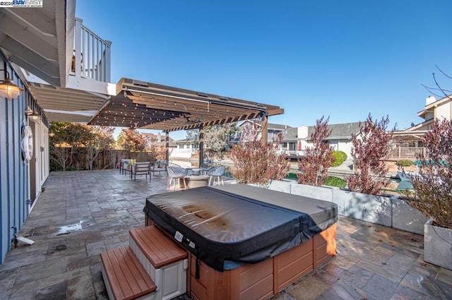
<svg viewBox="0 0 452 300">
<path fill-rule="evenodd" d="M 392 160 L 415 160 L 420 153 L 425 154 L 422 138 L 432 128 L 435 119 L 452 119 L 452 95 L 436 100 L 429 96 L 424 109 L 417 113 L 424 121 L 402 131 L 394 131 L 389 158 Z"/>
</svg>

